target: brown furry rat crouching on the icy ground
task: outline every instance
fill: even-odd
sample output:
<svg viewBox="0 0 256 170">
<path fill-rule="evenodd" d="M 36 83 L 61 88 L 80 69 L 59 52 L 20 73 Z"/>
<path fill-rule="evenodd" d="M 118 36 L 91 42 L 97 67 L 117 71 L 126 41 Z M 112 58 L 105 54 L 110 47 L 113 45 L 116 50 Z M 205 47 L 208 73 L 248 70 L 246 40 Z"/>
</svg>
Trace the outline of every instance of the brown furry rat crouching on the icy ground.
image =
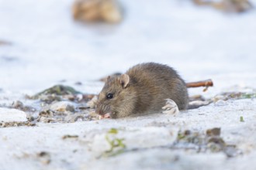
<svg viewBox="0 0 256 170">
<path fill-rule="evenodd" d="M 184 80 L 170 66 L 142 63 L 121 76 L 108 77 L 99 93 L 96 113 L 111 118 L 153 113 L 161 110 L 168 98 L 175 101 L 179 110 L 188 107 Z"/>
</svg>

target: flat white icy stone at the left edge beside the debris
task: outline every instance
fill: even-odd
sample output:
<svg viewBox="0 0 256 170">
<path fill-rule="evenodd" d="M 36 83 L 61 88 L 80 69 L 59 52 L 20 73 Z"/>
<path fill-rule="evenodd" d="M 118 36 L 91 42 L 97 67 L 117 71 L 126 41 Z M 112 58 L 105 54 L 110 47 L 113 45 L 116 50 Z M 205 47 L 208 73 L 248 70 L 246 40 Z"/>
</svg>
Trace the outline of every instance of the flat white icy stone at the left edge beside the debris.
<svg viewBox="0 0 256 170">
<path fill-rule="evenodd" d="M 0 121 L 27 121 L 26 113 L 22 110 L 0 107 Z"/>
</svg>

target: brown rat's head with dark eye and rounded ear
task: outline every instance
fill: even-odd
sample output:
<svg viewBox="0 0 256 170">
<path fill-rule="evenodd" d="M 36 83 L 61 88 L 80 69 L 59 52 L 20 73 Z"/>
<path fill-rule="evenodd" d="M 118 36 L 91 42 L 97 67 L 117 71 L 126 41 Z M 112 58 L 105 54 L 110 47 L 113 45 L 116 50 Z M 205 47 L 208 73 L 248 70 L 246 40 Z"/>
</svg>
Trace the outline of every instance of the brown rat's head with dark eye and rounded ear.
<svg viewBox="0 0 256 170">
<path fill-rule="evenodd" d="M 130 76 L 122 74 L 108 77 L 105 86 L 99 93 L 96 113 L 102 117 L 126 117 L 133 110 L 134 93 L 131 92 Z"/>
</svg>

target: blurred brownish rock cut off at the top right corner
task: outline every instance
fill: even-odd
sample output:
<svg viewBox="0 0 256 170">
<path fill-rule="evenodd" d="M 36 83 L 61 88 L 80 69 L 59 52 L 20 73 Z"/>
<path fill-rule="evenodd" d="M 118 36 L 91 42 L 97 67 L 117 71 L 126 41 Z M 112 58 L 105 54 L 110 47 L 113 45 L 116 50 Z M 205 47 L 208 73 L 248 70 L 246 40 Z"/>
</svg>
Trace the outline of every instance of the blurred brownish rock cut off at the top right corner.
<svg viewBox="0 0 256 170">
<path fill-rule="evenodd" d="M 217 1 L 206 1 L 206 0 L 193 0 L 196 5 L 209 5 L 213 8 L 220 9 L 225 12 L 245 12 L 253 6 L 248 0 L 221 0 Z"/>
</svg>

